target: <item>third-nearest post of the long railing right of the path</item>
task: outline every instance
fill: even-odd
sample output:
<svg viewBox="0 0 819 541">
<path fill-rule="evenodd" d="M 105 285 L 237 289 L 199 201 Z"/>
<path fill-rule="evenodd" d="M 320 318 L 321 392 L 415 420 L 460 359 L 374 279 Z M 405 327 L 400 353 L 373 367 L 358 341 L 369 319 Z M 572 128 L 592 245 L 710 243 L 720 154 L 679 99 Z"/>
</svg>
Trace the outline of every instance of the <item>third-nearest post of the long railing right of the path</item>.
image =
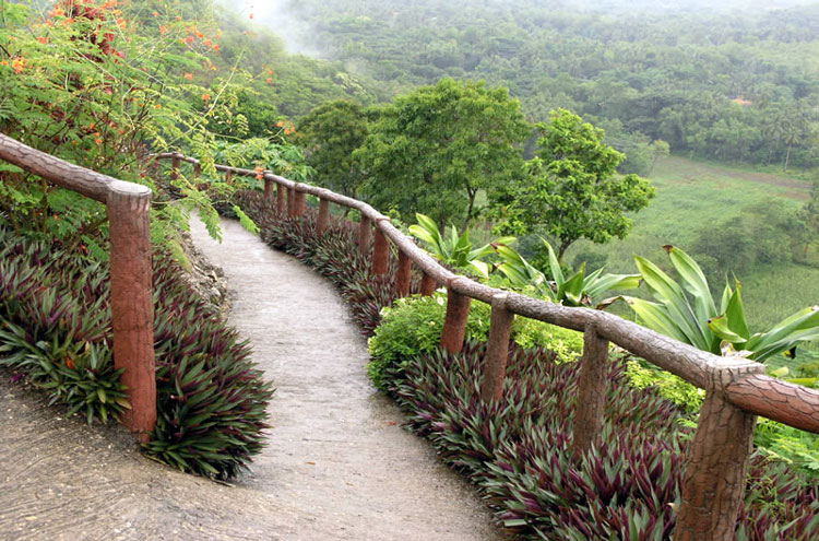
<svg viewBox="0 0 819 541">
<path fill-rule="evenodd" d="M 503 396 L 503 379 L 507 375 L 507 358 L 509 356 L 509 337 L 512 332 L 514 314 L 507 309 L 507 293 L 499 293 L 492 297 L 491 326 L 484 361 L 484 381 L 480 385 L 480 399 L 484 402 Z"/>
</svg>

